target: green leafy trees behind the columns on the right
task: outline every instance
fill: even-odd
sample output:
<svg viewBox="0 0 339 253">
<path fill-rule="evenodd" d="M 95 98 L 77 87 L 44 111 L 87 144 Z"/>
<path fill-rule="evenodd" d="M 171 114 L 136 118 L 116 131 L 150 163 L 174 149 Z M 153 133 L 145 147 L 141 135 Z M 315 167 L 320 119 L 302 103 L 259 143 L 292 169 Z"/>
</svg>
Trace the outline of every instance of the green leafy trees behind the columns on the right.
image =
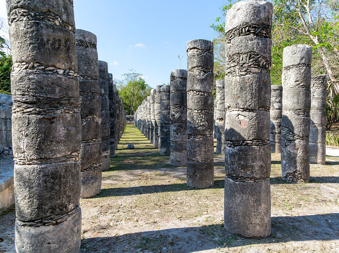
<svg viewBox="0 0 339 253">
<path fill-rule="evenodd" d="M 211 27 L 214 39 L 215 71 L 225 67 L 225 16 L 238 2 L 230 0 L 221 8 L 221 16 Z M 281 84 L 282 52 L 286 46 L 313 46 L 312 75 L 326 74 L 328 121 L 338 121 L 339 109 L 339 1 L 338 0 L 272 0 L 272 84 Z"/>
</svg>

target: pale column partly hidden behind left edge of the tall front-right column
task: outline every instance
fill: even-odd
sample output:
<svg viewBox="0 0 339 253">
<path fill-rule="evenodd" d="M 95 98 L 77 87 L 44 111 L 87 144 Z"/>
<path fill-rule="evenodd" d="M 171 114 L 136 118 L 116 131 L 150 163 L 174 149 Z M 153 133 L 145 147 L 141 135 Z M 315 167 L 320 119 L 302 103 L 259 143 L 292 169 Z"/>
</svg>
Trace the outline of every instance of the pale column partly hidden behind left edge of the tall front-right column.
<svg viewBox="0 0 339 253">
<path fill-rule="evenodd" d="M 225 80 L 216 81 L 215 125 L 217 132 L 217 154 L 225 153 Z"/>
</svg>

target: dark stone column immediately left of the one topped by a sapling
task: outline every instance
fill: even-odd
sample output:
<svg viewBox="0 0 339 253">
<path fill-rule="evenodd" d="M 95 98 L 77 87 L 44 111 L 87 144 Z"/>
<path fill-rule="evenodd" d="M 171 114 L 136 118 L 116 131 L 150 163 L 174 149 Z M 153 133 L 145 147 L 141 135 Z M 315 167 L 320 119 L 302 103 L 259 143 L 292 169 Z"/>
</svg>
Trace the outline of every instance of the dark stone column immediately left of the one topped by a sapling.
<svg viewBox="0 0 339 253">
<path fill-rule="evenodd" d="M 171 85 L 163 85 L 160 88 L 160 155 L 171 155 L 171 140 L 169 139 L 169 111 L 171 110 L 169 99 L 171 96 Z"/>
</svg>

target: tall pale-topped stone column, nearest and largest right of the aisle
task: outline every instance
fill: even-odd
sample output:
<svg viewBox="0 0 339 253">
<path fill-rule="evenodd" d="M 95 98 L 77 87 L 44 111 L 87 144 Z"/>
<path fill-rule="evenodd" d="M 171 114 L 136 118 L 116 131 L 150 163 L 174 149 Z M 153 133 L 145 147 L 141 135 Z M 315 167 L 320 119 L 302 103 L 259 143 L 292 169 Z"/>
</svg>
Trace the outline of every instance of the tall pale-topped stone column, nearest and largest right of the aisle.
<svg viewBox="0 0 339 253">
<path fill-rule="evenodd" d="M 271 234 L 272 13 L 249 0 L 226 15 L 224 225 L 244 237 Z"/>
</svg>

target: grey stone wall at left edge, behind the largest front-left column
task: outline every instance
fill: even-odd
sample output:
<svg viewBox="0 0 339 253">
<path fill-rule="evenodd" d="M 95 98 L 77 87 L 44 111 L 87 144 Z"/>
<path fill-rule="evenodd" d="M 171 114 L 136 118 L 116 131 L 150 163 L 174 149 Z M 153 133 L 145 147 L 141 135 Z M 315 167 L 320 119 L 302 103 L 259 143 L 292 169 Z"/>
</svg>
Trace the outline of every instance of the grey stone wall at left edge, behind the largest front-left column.
<svg viewBox="0 0 339 253">
<path fill-rule="evenodd" d="M 0 94 L 0 151 L 12 150 L 12 96 Z M 5 152 L 7 153 L 7 152 Z"/>
</svg>

